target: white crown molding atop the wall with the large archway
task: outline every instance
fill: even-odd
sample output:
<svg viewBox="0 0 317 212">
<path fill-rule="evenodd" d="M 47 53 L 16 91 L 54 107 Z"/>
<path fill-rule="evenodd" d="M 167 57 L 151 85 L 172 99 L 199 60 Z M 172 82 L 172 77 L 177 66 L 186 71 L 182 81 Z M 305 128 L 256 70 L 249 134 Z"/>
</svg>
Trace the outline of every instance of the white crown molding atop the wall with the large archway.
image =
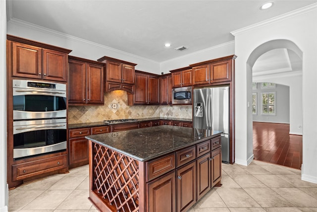
<svg viewBox="0 0 317 212">
<path fill-rule="evenodd" d="M 310 12 L 310 11 L 313 11 L 313 10 L 317 10 L 317 3 L 313 3 L 313 4 L 310 4 L 308 6 L 304 6 L 302 8 L 293 10 L 291 12 L 287 12 L 287 13 L 284 13 L 282 15 L 278 15 L 276 17 L 269 18 L 269 19 L 261 21 L 259 23 L 252 24 L 252 25 L 246 26 L 244 28 L 234 30 L 234 31 L 232 31 L 230 33 L 233 36 L 236 36 L 236 35 L 239 35 L 241 33 L 244 33 L 244 32 L 247 32 L 247 31 L 250 31 L 250 30 L 253 30 L 253 29 L 257 29 L 257 28 L 260 28 L 260 27 L 263 27 L 263 26 L 266 26 L 266 25 L 269 25 L 269 24 L 272 24 L 272 23 L 275 23 L 275 22 L 286 20 L 286 19 L 295 17 L 297 15 L 304 14 L 306 12 Z"/>
</svg>

